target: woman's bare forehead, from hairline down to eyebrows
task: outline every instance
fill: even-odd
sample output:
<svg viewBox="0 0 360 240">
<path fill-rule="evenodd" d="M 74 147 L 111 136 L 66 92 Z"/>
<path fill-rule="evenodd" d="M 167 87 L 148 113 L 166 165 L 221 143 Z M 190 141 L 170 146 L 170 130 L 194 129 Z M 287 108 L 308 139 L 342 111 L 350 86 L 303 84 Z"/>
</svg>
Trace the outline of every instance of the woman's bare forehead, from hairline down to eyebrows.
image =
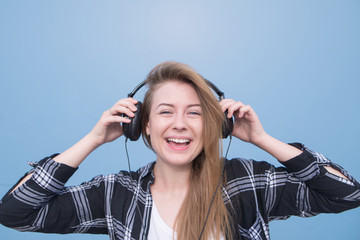
<svg viewBox="0 0 360 240">
<path fill-rule="evenodd" d="M 178 80 L 169 80 L 160 84 L 154 91 L 152 105 L 160 103 L 200 104 L 200 99 L 191 84 Z"/>
</svg>

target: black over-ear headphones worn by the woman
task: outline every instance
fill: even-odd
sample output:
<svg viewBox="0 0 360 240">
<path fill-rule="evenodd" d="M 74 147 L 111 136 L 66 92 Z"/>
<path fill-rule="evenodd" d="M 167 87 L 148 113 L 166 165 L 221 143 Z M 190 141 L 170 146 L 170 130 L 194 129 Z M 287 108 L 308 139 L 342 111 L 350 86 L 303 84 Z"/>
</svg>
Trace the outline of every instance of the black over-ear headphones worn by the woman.
<svg viewBox="0 0 360 240">
<path fill-rule="evenodd" d="M 225 98 L 224 92 L 220 91 L 219 88 L 215 86 L 212 82 L 205 79 L 206 83 L 211 87 L 211 89 L 219 96 L 219 101 Z M 142 81 L 139 85 L 137 85 L 134 90 L 132 90 L 128 97 L 134 97 L 135 93 L 140 90 L 146 84 L 146 80 Z M 141 112 L 142 112 L 142 103 L 140 101 L 137 102 L 135 105 L 137 107 L 137 111 L 134 112 L 135 116 L 131 118 L 130 123 L 123 123 L 123 132 L 126 138 L 130 139 L 131 141 L 136 141 L 139 139 L 141 135 Z M 233 131 L 234 123 L 233 119 L 227 117 L 228 111 L 225 111 L 225 120 L 222 126 L 222 138 L 227 138 Z M 125 115 L 123 115 L 125 116 Z"/>
</svg>

